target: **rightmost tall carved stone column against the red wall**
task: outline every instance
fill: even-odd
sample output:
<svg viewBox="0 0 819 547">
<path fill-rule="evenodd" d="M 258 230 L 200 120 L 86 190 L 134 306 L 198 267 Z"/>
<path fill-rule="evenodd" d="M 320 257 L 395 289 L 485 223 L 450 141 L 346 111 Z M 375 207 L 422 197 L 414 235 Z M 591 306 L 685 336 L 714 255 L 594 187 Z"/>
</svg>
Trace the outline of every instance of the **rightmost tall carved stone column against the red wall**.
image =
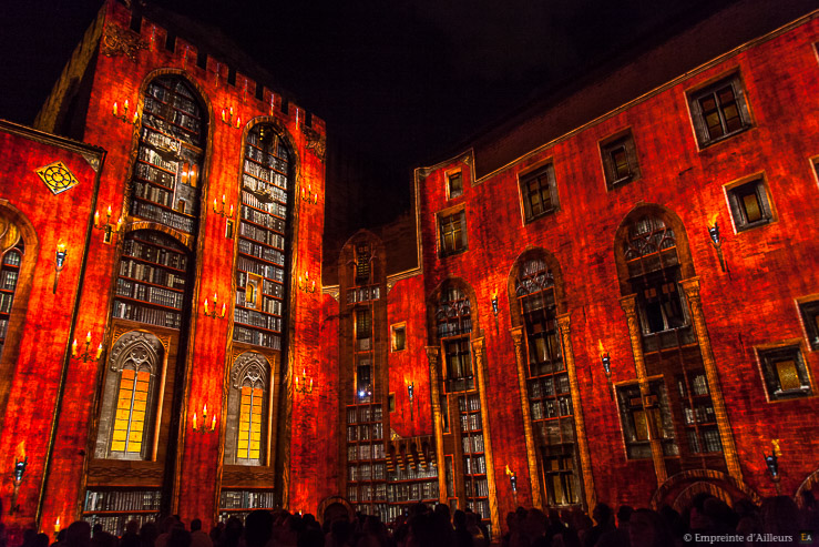
<svg viewBox="0 0 819 547">
<path fill-rule="evenodd" d="M 728 413 L 725 409 L 725 398 L 723 397 L 723 388 L 719 385 L 717 363 L 714 359 L 708 330 L 705 326 L 705 317 L 703 316 L 703 302 L 699 300 L 699 277 L 683 280 L 679 282 L 679 286 L 683 287 L 686 300 L 688 301 L 694 332 L 699 342 L 699 353 L 703 355 L 705 375 L 708 378 L 708 388 L 710 389 L 714 415 L 717 418 L 717 428 L 719 429 L 719 437 L 723 443 L 725 464 L 728 467 L 728 474 L 741 484 L 743 470 L 739 467 L 739 456 L 737 455 L 737 447 L 734 444 L 734 432 L 730 428 Z"/>
</svg>

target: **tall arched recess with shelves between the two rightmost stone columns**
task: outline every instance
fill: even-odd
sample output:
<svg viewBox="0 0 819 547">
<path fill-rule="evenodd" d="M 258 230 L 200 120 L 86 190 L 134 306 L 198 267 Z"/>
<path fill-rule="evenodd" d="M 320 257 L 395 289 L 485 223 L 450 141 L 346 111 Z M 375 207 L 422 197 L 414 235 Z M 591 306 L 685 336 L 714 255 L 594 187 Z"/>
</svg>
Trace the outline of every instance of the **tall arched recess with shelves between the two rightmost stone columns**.
<svg viewBox="0 0 819 547">
<path fill-rule="evenodd" d="M 634 211 L 617 230 L 615 256 L 621 291 L 634 295 L 647 386 L 647 394 L 636 383 L 616 389 L 627 456 L 651 457 L 651 438 L 657 438 L 669 475 L 680 466 L 725 469 L 711 387 L 680 285 L 695 275 L 682 222 L 656 205 Z"/>
</svg>

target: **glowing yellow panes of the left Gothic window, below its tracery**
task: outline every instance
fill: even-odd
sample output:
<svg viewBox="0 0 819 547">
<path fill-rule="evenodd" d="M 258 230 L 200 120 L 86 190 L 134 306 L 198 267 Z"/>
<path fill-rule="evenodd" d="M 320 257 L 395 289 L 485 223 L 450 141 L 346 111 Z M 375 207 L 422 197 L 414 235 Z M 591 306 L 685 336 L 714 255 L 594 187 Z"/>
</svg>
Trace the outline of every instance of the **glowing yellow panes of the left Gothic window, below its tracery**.
<svg viewBox="0 0 819 547">
<path fill-rule="evenodd" d="M 111 452 L 140 454 L 142 450 L 150 381 L 147 372 L 122 371 Z"/>
</svg>

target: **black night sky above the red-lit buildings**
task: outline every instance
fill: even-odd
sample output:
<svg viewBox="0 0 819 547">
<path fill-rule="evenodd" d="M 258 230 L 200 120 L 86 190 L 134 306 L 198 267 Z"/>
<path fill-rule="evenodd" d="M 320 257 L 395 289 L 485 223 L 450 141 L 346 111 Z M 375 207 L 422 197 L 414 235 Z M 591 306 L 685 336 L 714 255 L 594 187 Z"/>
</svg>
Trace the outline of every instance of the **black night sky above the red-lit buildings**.
<svg viewBox="0 0 819 547">
<path fill-rule="evenodd" d="M 411 169 L 669 22 L 730 0 L 165 0 L 221 28 L 328 132 Z M 4 0 L 0 118 L 30 124 L 100 1 Z"/>
</svg>

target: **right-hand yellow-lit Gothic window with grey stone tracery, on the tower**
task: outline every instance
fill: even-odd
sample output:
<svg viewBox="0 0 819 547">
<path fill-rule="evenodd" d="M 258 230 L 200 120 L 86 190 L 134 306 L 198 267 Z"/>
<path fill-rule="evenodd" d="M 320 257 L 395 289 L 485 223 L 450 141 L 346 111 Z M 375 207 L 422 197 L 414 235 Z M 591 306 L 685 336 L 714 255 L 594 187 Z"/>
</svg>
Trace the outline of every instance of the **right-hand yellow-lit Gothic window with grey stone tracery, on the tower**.
<svg viewBox="0 0 819 547">
<path fill-rule="evenodd" d="M 225 460 L 264 465 L 267 444 L 270 366 L 264 355 L 245 352 L 231 371 Z"/>
</svg>

